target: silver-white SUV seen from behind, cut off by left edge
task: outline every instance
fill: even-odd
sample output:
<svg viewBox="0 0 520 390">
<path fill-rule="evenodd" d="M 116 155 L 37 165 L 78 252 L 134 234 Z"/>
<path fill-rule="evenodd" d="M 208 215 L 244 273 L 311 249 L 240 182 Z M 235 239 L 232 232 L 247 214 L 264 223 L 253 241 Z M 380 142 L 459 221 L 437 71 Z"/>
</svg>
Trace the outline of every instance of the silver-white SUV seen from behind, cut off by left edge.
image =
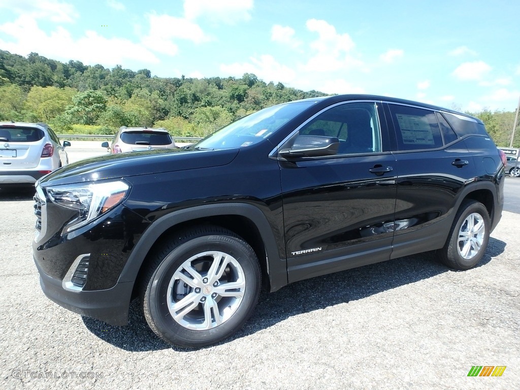
<svg viewBox="0 0 520 390">
<path fill-rule="evenodd" d="M 34 184 L 67 165 L 66 146 L 45 123 L 0 122 L 0 187 Z"/>
</svg>

